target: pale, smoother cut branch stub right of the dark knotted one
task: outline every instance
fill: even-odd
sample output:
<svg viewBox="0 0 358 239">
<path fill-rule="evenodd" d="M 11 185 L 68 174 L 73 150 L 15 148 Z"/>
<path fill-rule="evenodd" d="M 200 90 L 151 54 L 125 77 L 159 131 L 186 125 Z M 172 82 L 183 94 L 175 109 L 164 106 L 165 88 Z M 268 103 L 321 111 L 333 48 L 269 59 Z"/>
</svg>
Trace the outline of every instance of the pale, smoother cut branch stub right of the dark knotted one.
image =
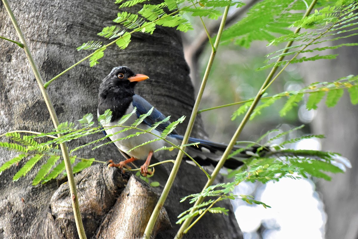
<svg viewBox="0 0 358 239">
<path fill-rule="evenodd" d="M 150 215 L 159 199 L 159 195 L 143 181 L 131 176 L 128 184 L 111 211 L 97 231 L 98 239 L 142 238 Z M 151 235 L 155 238 L 158 231 L 171 228 L 165 209 L 160 211 L 159 219 Z"/>
</svg>

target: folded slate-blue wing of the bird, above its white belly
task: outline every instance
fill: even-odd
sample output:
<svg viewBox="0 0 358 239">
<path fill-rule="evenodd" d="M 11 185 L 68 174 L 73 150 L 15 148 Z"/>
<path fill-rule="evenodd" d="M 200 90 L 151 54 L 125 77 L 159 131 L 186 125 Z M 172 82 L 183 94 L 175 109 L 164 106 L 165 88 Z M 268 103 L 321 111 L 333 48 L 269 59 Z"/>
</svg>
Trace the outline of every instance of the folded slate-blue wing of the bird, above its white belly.
<svg viewBox="0 0 358 239">
<path fill-rule="evenodd" d="M 147 113 L 153 107 L 148 101 L 138 96 L 137 94 L 133 96 L 132 105 L 137 108 L 136 111 L 137 117 L 139 117 L 141 114 Z M 162 114 L 158 109 L 154 108 L 150 116 L 146 117 L 143 122 L 146 125 L 152 126 L 154 123 L 162 121 L 165 118 L 166 116 L 164 114 Z M 165 130 L 165 127 L 167 127 L 170 123 L 171 123 L 170 121 L 162 123 L 156 128 L 156 130 L 163 131 Z M 175 130 L 173 130 L 171 134 L 177 135 L 178 133 Z"/>
</svg>

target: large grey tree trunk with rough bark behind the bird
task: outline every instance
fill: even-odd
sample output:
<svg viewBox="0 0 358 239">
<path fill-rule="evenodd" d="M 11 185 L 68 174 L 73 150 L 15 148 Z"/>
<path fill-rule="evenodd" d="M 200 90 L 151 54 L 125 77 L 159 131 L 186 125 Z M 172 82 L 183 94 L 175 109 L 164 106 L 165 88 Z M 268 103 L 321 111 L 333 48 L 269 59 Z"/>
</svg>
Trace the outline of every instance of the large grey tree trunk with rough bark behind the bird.
<svg viewBox="0 0 358 239">
<path fill-rule="evenodd" d="M 10 1 L 45 81 L 89 53 L 77 52 L 76 47 L 88 40 L 100 39 L 96 34 L 104 26 L 113 25 L 112 20 L 117 15 L 117 5 L 113 2 L 107 0 Z M 131 11 L 136 10 L 138 9 L 131 9 Z M 18 40 L 2 3 L 0 3 L 0 35 Z M 107 49 L 105 56 L 96 67 L 90 68 L 88 61 L 83 62 L 49 86 L 49 95 L 60 122 L 76 121 L 86 113 L 96 115 L 98 86 L 112 67 L 120 65 L 127 65 L 136 73 L 150 76 L 150 80 L 138 84 L 137 92 L 161 112 L 171 115 L 172 119 L 190 115 L 194 104 L 194 93 L 188 76 L 189 69 L 183 57 L 179 33 L 174 29 L 158 27 L 153 35 L 139 33 L 133 35 L 131 40 L 130 46 L 125 50 L 119 50 L 116 46 Z M 2 40 L 0 55 L 2 58 L 0 134 L 10 130 L 47 132 L 52 129 L 49 113 L 24 51 L 17 45 Z M 185 123 L 178 127 L 179 132 L 183 133 L 184 130 Z M 193 136 L 203 137 L 202 132 L 202 123 L 199 119 Z M 98 137 L 101 136 L 73 141 L 69 147 L 72 148 Z M 77 155 L 95 157 L 103 161 L 109 159 L 118 161 L 121 158 L 112 145 L 95 151 L 85 148 L 78 151 Z M 13 153 L 1 150 L 0 164 L 14 156 Z M 73 225 L 63 228 L 51 226 L 57 225 L 56 220 L 59 218 L 64 218 L 65 221 L 72 216 L 61 213 L 62 203 L 54 204 L 54 201 L 51 201 L 56 195 L 66 194 L 66 191 L 61 191 L 64 186 L 58 188 L 55 181 L 30 186 L 39 166 L 36 167 L 37 170 L 30 171 L 26 177 L 12 182 L 12 176 L 23 164 L 24 162 L 20 162 L 18 166 L 13 166 L 0 175 L 0 238 L 59 238 L 57 235 L 63 238 L 76 238 L 77 233 Z M 155 189 L 158 192 L 163 189 L 171 167 L 172 165 L 156 167 L 152 179 L 160 182 L 161 186 Z M 93 175 L 104 175 L 101 167 L 91 167 L 91 170 Z M 87 195 L 90 190 L 93 198 L 88 200 L 98 200 L 97 206 L 92 204 L 84 206 L 84 223 L 87 223 L 87 232 L 90 231 L 92 234 L 96 233 L 97 226 L 102 223 L 102 217 L 115 205 L 116 199 L 110 193 L 103 194 L 105 180 L 91 185 L 91 179 L 82 174 L 79 177 L 88 182 L 83 184 L 87 185 L 85 187 L 79 184 L 79 195 L 81 193 Z M 188 203 L 179 203 L 180 198 L 199 192 L 205 181 L 205 175 L 197 167 L 183 163 L 165 204 L 173 228 L 163 233 L 176 232 L 179 228 L 179 225 L 175 224 L 176 216 L 189 207 Z M 223 206 L 231 208 L 228 202 Z M 94 211 L 97 211 L 97 214 Z M 141 212 L 142 209 L 138 208 L 138 213 Z M 105 229 L 104 224 L 101 229 Z M 221 234 L 225 238 L 242 238 L 232 211 L 228 217 L 205 215 L 189 233 L 197 237 L 202 234 L 213 238 L 214 235 Z M 170 238 L 174 235 L 161 234 L 161 236 Z"/>
</svg>

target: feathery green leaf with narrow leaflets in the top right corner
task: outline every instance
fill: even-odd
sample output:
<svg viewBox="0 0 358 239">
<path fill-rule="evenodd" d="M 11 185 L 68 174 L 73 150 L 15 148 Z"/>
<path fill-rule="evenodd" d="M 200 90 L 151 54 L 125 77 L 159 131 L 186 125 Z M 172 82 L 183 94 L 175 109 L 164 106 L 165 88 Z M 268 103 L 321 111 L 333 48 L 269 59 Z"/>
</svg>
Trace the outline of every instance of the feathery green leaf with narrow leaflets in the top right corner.
<svg viewBox="0 0 358 239">
<path fill-rule="evenodd" d="M 329 2 L 325 4 L 330 4 Z M 303 19 L 297 19 L 290 27 L 301 28 L 300 33 L 289 33 L 271 40 L 269 45 L 277 45 L 279 43 L 294 42 L 294 45 L 275 51 L 269 55 L 268 61 L 293 55 L 290 60 L 284 60 L 281 62 L 272 62 L 259 69 L 266 69 L 271 67 L 277 67 L 281 65 L 299 63 L 305 61 L 314 61 L 319 59 L 334 59 L 337 57 L 335 54 L 328 55 L 315 55 L 314 57 L 300 57 L 299 54 L 303 53 L 315 53 L 328 49 L 337 49 L 343 46 L 355 46 L 357 43 L 343 43 L 338 45 L 330 45 L 323 47 L 313 48 L 313 45 L 324 42 L 333 42 L 338 39 L 348 38 L 350 36 L 357 35 L 358 28 L 352 26 L 357 25 L 356 19 L 358 19 L 355 11 L 358 10 L 358 4 L 355 1 L 337 1 L 335 4 L 325 6 Z M 303 31 L 303 29 L 310 29 L 309 31 Z M 351 33 L 351 34 L 348 34 Z M 337 36 L 338 35 L 338 36 Z M 285 50 L 285 52 L 283 52 Z M 283 53 L 280 53 L 280 52 Z M 333 94 L 333 93 L 330 93 Z M 331 102 L 329 102 L 331 103 Z M 332 102 L 333 104 L 334 102 Z"/>
</svg>

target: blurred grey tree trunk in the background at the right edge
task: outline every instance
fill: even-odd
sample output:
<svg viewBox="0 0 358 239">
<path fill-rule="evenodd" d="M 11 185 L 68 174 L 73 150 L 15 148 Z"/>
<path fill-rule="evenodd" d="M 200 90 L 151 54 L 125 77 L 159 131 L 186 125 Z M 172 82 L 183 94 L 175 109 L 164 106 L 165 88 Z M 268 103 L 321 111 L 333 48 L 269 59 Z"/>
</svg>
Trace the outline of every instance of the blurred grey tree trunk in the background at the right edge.
<svg viewBox="0 0 358 239">
<path fill-rule="evenodd" d="M 347 42 L 357 42 L 349 38 Z M 343 43 L 334 42 L 336 45 Z M 339 48 L 333 54 L 339 54 L 337 60 L 320 60 L 304 65 L 305 79 L 308 83 L 334 81 L 349 74 L 358 74 L 357 47 Z M 317 110 L 312 123 L 315 134 L 324 134 L 322 150 L 339 152 L 352 163 L 352 169 L 344 174 L 333 175 L 332 181 L 320 180 L 318 190 L 322 193 L 327 214 L 326 239 L 358 238 L 358 107 L 344 96 L 334 108 L 323 103 Z"/>
</svg>

